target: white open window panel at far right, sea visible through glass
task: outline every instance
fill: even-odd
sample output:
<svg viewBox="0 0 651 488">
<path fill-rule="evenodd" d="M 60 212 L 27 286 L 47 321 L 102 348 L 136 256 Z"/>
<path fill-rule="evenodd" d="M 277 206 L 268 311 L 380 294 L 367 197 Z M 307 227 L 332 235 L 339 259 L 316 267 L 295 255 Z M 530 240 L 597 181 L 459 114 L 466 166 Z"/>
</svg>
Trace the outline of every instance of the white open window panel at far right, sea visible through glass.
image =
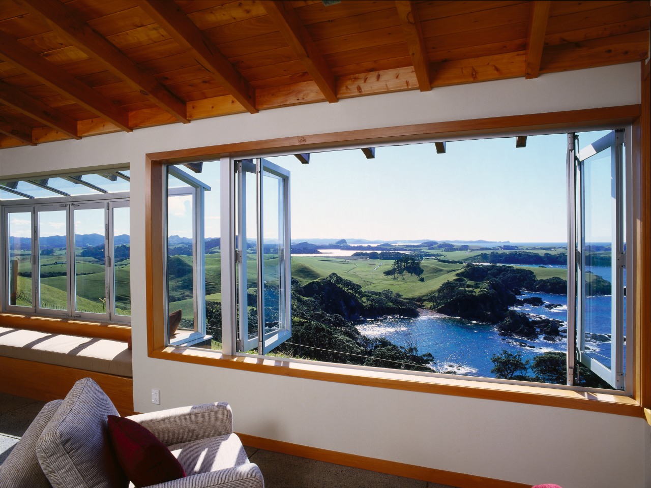
<svg viewBox="0 0 651 488">
<path fill-rule="evenodd" d="M 568 135 L 570 223 L 568 383 L 626 389 L 624 131 Z M 596 140 L 594 140 L 596 139 Z M 586 144 L 586 142 L 589 142 Z M 580 148 L 580 150 L 579 150 Z M 572 195 L 573 193 L 573 195 Z M 574 296 L 572 293 L 574 290 Z M 570 311 L 574 313 L 570 313 Z M 597 384 L 595 384 L 595 381 Z M 605 385 L 599 385 L 603 381 Z"/>
</svg>

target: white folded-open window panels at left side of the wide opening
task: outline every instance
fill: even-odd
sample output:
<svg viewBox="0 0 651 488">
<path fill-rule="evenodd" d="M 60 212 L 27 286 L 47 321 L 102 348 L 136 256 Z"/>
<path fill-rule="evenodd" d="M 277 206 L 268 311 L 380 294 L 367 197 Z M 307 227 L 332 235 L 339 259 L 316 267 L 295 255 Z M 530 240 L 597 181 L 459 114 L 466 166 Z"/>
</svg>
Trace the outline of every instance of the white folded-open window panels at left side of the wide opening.
<svg viewBox="0 0 651 488">
<path fill-rule="evenodd" d="M 266 355 L 292 335 L 290 173 L 263 158 L 236 170 L 237 351 Z"/>
</svg>

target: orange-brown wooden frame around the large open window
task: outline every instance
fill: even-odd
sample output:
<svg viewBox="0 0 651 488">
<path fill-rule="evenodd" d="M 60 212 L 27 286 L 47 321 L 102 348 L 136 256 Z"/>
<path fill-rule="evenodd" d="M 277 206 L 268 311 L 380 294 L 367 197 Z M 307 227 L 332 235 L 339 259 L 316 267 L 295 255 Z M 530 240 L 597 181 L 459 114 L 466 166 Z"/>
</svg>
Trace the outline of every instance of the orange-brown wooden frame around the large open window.
<svg viewBox="0 0 651 488">
<path fill-rule="evenodd" d="M 644 75 L 643 75 L 644 79 Z M 648 75 L 647 81 L 648 83 Z M 644 98 L 644 94 L 643 94 Z M 651 327 L 648 318 L 651 303 L 644 299 L 650 290 L 648 257 L 644 251 L 650 247 L 648 233 L 650 223 L 649 193 L 651 181 L 648 176 L 648 109 L 643 105 L 624 105 L 577 111 L 536 113 L 474 120 L 434 122 L 389 128 L 361 129 L 316 135 L 296 135 L 265 141 L 238 142 L 206 146 L 186 150 L 174 150 L 146 154 L 145 177 L 146 197 L 145 227 L 146 245 L 146 326 L 148 357 L 176 360 L 193 364 L 204 364 L 221 368 L 245 370 L 250 372 L 285 375 L 318 381 L 332 381 L 351 385 L 393 388 L 432 394 L 463 396 L 485 400 L 512 401 L 533 405 L 564 407 L 585 411 L 647 417 L 651 414 L 651 354 L 648 346 Z M 391 372 L 379 372 L 363 368 L 323 363 L 294 362 L 276 358 L 229 356 L 203 349 L 186 349 L 165 346 L 165 276 L 163 275 L 164 215 L 162 213 L 164 188 L 164 169 L 167 164 L 190 163 L 219 159 L 220 157 L 252 157 L 263 153 L 316 152 L 334 150 L 348 146 L 377 146 L 381 144 L 450 141 L 469 137 L 490 137 L 498 135 L 531 134 L 536 132 L 565 132 L 576 129 L 600 129 L 616 126 L 632 126 L 633 147 L 631 154 L 643 173 L 641 187 L 641 219 L 636 222 L 637 245 L 635 245 L 636 288 L 640 299 L 635 303 L 635 347 L 633 354 L 633 392 L 631 396 L 590 392 L 581 388 L 529 386 L 489 381 L 471 381 L 455 377 L 425 377 Z M 646 162 L 646 166 L 643 163 Z"/>
</svg>

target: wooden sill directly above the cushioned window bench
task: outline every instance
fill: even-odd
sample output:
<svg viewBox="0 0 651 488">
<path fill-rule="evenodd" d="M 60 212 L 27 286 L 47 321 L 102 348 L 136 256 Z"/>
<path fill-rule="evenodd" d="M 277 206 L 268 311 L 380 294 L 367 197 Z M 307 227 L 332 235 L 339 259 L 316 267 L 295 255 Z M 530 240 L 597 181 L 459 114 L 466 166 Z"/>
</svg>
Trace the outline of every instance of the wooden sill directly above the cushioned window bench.
<svg viewBox="0 0 651 488">
<path fill-rule="evenodd" d="M 0 324 L 19 329 L 72 334 L 126 342 L 131 337 L 131 327 L 120 323 L 85 321 L 14 313 L 0 313 Z"/>
</svg>

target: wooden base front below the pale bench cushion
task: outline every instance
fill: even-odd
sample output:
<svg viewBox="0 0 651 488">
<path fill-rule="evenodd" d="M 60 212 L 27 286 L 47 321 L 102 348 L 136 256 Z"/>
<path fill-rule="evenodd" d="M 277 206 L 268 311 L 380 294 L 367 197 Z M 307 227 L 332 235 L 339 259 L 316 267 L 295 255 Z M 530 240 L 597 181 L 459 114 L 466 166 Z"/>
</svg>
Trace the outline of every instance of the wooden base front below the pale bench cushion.
<svg viewBox="0 0 651 488">
<path fill-rule="evenodd" d="M 0 356 L 0 392 L 50 401 L 64 398 L 78 379 L 92 378 L 120 415 L 133 415 L 133 379 Z"/>
</svg>

